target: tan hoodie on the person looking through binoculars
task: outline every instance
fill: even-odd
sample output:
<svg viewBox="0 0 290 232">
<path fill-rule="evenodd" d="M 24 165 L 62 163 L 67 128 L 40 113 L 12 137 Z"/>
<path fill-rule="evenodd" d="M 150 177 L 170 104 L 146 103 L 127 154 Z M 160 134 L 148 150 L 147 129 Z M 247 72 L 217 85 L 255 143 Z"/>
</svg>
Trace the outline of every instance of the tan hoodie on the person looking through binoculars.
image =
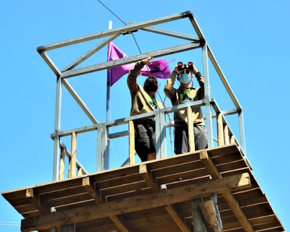
<svg viewBox="0 0 290 232">
<path fill-rule="evenodd" d="M 185 89 L 182 86 L 179 86 L 178 89 L 173 88 L 176 75 L 177 75 L 177 72 L 173 71 L 170 77 L 168 78 L 164 87 L 165 95 L 170 99 L 173 106 L 204 99 L 204 77 L 201 76 L 200 72 L 197 72 L 195 74 L 195 77 L 197 78 L 197 81 L 200 85 L 200 88 L 198 89 L 195 89 L 193 87 Z M 187 93 L 190 99 L 187 98 L 185 100 L 184 95 Z M 194 124 L 204 125 L 204 120 L 202 117 L 202 112 L 201 112 L 200 107 L 196 107 L 192 109 L 192 119 L 193 119 Z M 184 125 L 187 125 L 187 122 L 188 122 L 188 119 L 187 119 L 186 110 L 180 110 L 180 111 L 174 112 L 174 126 L 184 126 Z"/>
</svg>

